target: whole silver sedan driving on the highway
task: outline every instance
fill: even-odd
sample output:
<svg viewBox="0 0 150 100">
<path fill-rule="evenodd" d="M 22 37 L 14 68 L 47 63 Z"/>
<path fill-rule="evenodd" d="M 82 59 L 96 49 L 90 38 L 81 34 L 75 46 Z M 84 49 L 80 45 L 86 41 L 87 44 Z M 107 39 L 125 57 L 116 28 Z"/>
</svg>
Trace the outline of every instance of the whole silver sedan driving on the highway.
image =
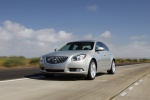
<svg viewBox="0 0 150 100">
<path fill-rule="evenodd" d="M 96 73 L 114 74 L 115 58 L 108 47 L 99 41 L 73 41 L 40 58 L 40 72 L 54 74 L 78 74 L 93 80 Z"/>
</svg>

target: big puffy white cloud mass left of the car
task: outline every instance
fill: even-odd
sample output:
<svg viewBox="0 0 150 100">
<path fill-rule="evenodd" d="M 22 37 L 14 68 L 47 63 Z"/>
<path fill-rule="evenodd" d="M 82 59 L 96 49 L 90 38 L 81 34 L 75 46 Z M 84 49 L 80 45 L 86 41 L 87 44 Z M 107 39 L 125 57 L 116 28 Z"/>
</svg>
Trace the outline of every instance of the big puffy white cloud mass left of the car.
<svg viewBox="0 0 150 100">
<path fill-rule="evenodd" d="M 73 38 L 72 33 L 52 28 L 33 30 L 15 22 L 5 21 L 0 27 L 0 56 L 37 57 L 52 51 Z"/>
</svg>

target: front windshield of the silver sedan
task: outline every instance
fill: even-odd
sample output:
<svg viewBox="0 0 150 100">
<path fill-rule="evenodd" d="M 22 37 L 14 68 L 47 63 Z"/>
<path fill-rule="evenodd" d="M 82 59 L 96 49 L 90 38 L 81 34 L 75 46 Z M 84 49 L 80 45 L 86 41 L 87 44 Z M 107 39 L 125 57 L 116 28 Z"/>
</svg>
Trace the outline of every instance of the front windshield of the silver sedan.
<svg viewBox="0 0 150 100">
<path fill-rule="evenodd" d="M 58 49 L 58 51 L 67 50 L 92 50 L 94 42 L 70 42 L 65 44 L 63 47 Z"/>
</svg>

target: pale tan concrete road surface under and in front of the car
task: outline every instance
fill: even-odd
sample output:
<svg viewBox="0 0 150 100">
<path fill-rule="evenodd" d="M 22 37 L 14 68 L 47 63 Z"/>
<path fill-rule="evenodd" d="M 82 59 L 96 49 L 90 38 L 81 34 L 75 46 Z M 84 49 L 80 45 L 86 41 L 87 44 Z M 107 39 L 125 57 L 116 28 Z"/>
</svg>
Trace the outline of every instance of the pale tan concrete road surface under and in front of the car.
<svg viewBox="0 0 150 100">
<path fill-rule="evenodd" d="M 33 76 L 0 81 L 0 100 L 150 100 L 149 63 L 120 66 L 115 75 L 104 72 L 93 81 Z"/>
</svg>

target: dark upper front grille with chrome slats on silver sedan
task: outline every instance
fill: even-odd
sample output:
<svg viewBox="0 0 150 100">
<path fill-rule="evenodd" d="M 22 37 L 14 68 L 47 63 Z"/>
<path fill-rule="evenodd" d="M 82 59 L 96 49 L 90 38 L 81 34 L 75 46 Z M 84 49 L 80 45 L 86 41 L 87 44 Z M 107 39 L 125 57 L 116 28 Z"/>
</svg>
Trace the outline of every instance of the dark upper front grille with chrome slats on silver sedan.
<svg viewBox="0 0 150 100">
<path fill-rule="evenodd" d="M 65 56 L 51 56 L 51 57 L 46 57 L 46 62 L 49 64 L 58 64 L 58 63 L 63 63 L 68 59 L 68 57 Z"/>
</svg>

